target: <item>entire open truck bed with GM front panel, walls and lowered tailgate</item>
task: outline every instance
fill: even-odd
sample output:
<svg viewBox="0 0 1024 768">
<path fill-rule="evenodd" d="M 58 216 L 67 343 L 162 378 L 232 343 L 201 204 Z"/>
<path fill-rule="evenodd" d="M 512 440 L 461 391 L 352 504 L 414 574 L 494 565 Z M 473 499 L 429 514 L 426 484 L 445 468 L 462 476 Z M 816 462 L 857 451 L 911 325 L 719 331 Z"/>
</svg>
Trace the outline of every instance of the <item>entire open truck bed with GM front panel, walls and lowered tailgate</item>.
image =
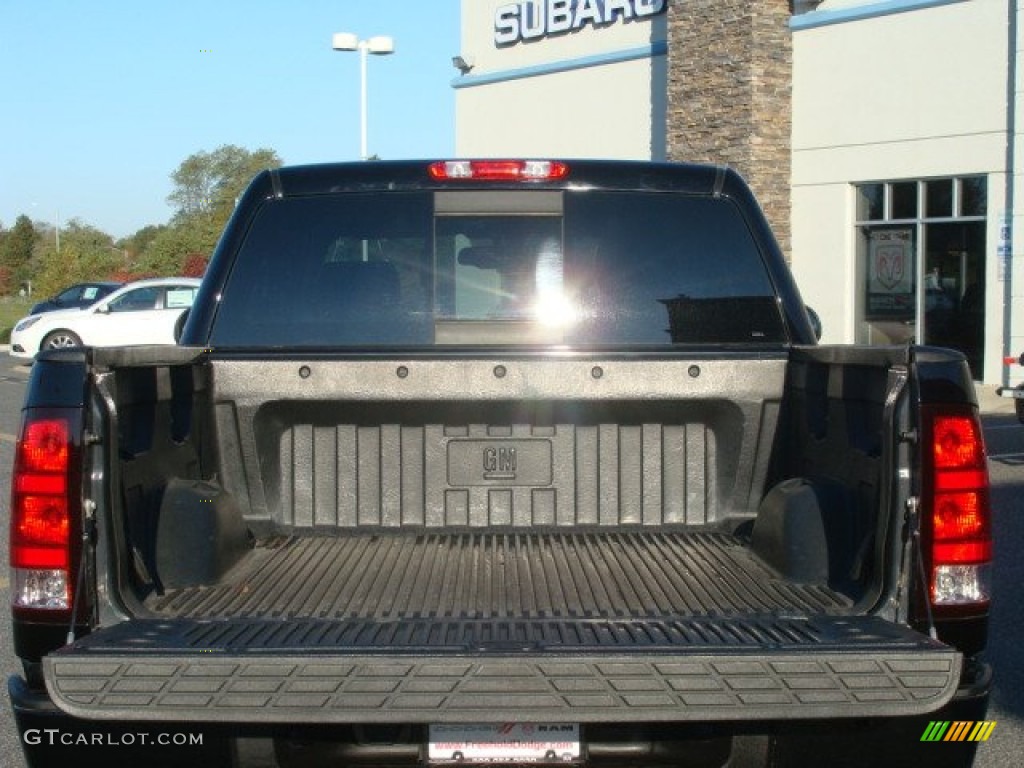
<svg viewBox="0 0 1024 768">
<path fill-rule="evenodd" d="M 512 382 L 472 356 L 133 358 L 101 382 L 124 609 L 46 656 L 49 694 L 276 725 L 934 712 L 962 656 L 874 614 L 860 561 L 891 527 L 889 353 L 792 354 L 530 357 Z"/>
</svg>

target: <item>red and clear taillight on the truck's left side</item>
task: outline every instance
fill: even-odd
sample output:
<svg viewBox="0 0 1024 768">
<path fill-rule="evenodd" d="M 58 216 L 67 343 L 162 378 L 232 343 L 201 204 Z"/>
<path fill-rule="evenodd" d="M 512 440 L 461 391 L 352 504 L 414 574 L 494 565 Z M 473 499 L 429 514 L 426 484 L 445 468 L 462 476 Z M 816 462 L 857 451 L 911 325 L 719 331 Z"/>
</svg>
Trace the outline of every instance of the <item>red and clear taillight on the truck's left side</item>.
<svg viewBox="0 0 1024 768">
<path fill-rule="evenodd" d="M 72 447 L 67 418 L 30 415 L 11 477 L 11 597 L 17 607 L 71 605 Z"/>
</svg>

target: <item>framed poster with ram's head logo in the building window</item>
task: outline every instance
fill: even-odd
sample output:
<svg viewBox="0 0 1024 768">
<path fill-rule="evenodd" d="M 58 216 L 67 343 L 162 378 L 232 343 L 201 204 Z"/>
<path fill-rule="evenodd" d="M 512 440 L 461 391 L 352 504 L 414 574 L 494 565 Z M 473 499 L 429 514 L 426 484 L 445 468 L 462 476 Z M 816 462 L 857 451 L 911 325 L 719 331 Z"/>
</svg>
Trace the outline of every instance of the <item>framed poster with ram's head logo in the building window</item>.
<svg viewBox="0 0 1024 768">
<path fill-rule="evenodd" d="M 913 230 L 874 229 L 867 246 L 867 319 L 913 316 Z"/>
</svg>

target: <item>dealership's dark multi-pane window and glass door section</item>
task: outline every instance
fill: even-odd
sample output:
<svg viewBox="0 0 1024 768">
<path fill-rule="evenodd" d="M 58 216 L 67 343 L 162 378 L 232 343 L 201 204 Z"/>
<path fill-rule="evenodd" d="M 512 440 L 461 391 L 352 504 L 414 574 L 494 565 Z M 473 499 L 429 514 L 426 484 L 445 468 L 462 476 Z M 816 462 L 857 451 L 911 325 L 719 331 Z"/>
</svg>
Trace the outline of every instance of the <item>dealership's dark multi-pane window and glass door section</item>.
<svg viewBox="0 0 1024 768">
<path fill-rule="evenodd" d="M 985 176 L 857 184 L 857 341 L 921 342 L 984 368 Z"/>
</svg>

